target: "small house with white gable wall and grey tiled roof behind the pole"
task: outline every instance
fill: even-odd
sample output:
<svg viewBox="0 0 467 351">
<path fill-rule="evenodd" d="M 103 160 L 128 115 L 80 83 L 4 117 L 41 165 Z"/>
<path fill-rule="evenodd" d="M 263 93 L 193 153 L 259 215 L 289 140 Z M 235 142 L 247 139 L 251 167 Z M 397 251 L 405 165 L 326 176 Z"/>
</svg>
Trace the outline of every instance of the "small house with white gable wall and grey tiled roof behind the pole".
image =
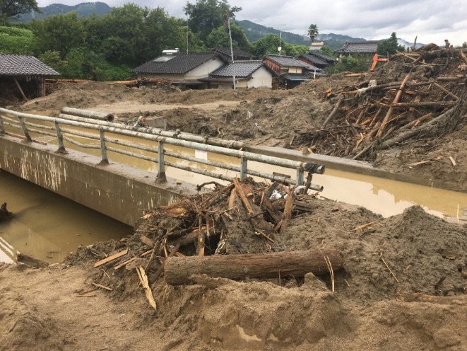
<svg viewBox="0 0 467 351">
<path fill-rule="evenodd" d="M 230 62 L 209 74 L 208 78 L 200 79 L 208 83 L 208 88 L 232 89 L 235 74 L 236 88 L 268 88 L 273 87 L 273 78 L 277 76 L 261 60 Z"/>
</svg>

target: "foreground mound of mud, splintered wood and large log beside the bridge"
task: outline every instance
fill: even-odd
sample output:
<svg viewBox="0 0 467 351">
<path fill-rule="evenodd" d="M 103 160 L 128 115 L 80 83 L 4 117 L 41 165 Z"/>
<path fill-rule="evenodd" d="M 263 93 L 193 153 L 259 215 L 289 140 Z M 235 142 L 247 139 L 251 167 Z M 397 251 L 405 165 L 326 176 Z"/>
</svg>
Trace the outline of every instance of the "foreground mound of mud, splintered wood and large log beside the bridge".
<svg viewBox="0 0 467 351">
<path fill-rule="evenodd" d="M 157 207 L 133 236 L 81 247 L 66 263 L 93 265 L 90 290 L 79 294 L 106 289 L 125 299 L 144 290 L 154 309 L 167 284 L 230 278 L 300 287 L 307 273 L 360 304 L 465 294 L 466 235 L 467 226 L 421 207 L 384 219 L 247 178 Z"/>
</svg>

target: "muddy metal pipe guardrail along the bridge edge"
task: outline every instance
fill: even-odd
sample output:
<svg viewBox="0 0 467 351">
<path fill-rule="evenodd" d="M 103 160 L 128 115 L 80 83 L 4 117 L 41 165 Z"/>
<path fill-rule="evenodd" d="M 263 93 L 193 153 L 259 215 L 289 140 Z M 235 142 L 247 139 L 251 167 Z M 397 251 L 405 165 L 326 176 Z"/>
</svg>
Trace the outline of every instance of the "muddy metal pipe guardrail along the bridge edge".
<svg viewBox="0 0 467 351">
<path fill-rule="evenodd" d="M 82 110 L 82 111 L 94 113 L 93 111 L 86 111 L 86 110 Z M 182 169 L 184 171 L 190 171 L 193 173 L 207 175 L 212 178 L 217 178 L 217 179 L 222 179 L 222 180 L 227 180 L 227 181 L 232 180 L 232 178 L 227 175 L 167 161 L 165 160 L 165 156 L 172 156 L 177 159 L 183 159 L 187 161 L 205 164 L 208 166 L 213 166 L 215 168 L 235 171 L 237 173 L 240 173 L 241 180 L 247 177 L 247 175 L 254 175 L 257 177 L 266 178 L 266 179 L 273 180 L 273 181 L 278 181 L 286 185 L 303 185 L 305 183 L 305 180 L 304 180 L 305 172 L 308 172 L 309 175 L 312 175 L 312 173 L 323 174 L 325 170 L 324 166 L 321 166 L 317 163 L 292 161 L 288 159 L 281 159 L 275 156 L 266 156 L 266 155 L 261 155 L 261 154 L 255 154 L 255 153 L 248 152 L 248 151 L 232 149 L 232 147 L 235 147 L 235 146 L 240 146 L 240 145 L 244 146 L 244 144 L 240 142 L 234 142 L 234 141 L 228 141 L 228 140 L 216 139 L 216 138 L 204 138 L 196 134 L 181 133 L 179 131 L 169 132 L 169 131 L 149 128 L 149 127 L 137 127 L 137 126 L 124 125 L 122 123 L 117 123 L 117 122 L 107 122 L 106 120 L 90 120 L 90 118 L 78 117 L 76 115 L 60 114 L 59 117 L 57 118 L 57 117 L 47 117 L 47 116 L 41 116 L 41 115 L 32 115 L 29 113 L 20 113 L 17 111 L 7 110 L 4 108 L 0 108 L 0 113 L 4 113 L 4 114 L 11 115 L 11 116 L 18 118 L 18 120 L 14 120 L 11 117 L 7 117 L 6 115 L 0 114 L 0 134 L 11 134 L 11 133 L 6 132 L 5 130 L 4 126 L 8 125 L 10 127 L 22 130 L 24 137 L 28 142 L 33 141 L 32 138 L 30 137 L 30 133 L 47 135 L 49 137 L 54 137 L 54 138 L 57 137 L 58 145 L 59 145 L 59 149 L 57 150 L 57 152 L 61 152 L 61 153 L 66 152 L 64 141 L 74 144 L 76 146 L 80 146 L 82 148 L 100 149 L 101 151 L 100 165 L 105 165 L 109 163 L 109 159 L 107 157 L 107 151 L 113 151 L 119 154 L 124 154 L 126 156 L 135 157 L 137 159 L 152 161 L 152 162 L 158 163 L 158 175 L 157 175 L 158 181 L 166 180 L 165 166 L 171 166 L 174 168 Z M 52 127 L 51 125 L 49 126 L 37 125 L 35 123 L 30 122 L 31 120 L 53 122 L 54 126 Z M 88 130 L 98 130 L 99 136 L 95 134 L 91 134 L 91 133 L 78 132 L 76 130 L 65 129 L 64 127 L 62 127 L 62 125 L 68 125 L 71 127 L 82 127 Z M 52 132 L 49 132 L 49 131 L 52 131 Z M 112 134 L 121 134 L 121 135 L 129 136 L 129 137 L 135 137 L 138 139 L 145 139 L 149 141 L 158 142 L 158 147 L 154 148 L 154 147 L 120 141 L 118 139 L 106 137 L 105 132 L 109 132 Z M 18 136 L 17 134 L 13 134 L 13 135 L 15 135 L 16 137 L 21 137 L 21 136 Z M 77 142 L 75 139 L 69 137 L 69 135 L 72 135 L 75 137 L 83 137 L 86 139 L 97 140 L 100 142 L 100 145 L 81 144 L 80 142 Z M 158 154 L 158 157 L 154 158 L 154 157 L 150 157 L 146 155 L 136 154 L 131 151 L 125 151 L 125 150 L 118 149 L 112 146 L 107 146 L 107 143 L 126 146 L 131 149 L 138 149 L 142 151 L 153 152 L 155 154 Z M 174 146 L 183 146 L 189 149 L 208 151 L 211 153 L 221 154 L 221 155 L 226 155 L 226 156 L 233 156 L 237 159 L 240 159 L 240 166 L 235 166 L 232 164 L 221 163 L 221 162 L 216 162 L 216 161 L 209 161 L 206 159 L 199 159 L 197 157 L 189 156 L 186 154 L 181 154 L 175 151 L 170 151 L 170 150 L 165 149 L 164 147 L 165 144 L 170 144 Z M 226 146 L 230 146 L 230 147 L 226 147 Z M 287 175 L 270 174 L 270 173 L 265 173 L 262 171 L 256 171 L 251 168 L 249 169 L 248 161 L 256 161 L 259 163 L 267 163 L 267 164 L 274 165 L 274 166 L 292 168 L 292 169 L 295 169 L 296 171 L 296 177 L 295 179 L 292 179 L 288 177 Z M 309 178 L 311 179 L 311 176 Z M 322 191 L 323 187 L 321 187 L 320 185 L 311 184 L 309 185 L 309 189 Z"/>
</svg>

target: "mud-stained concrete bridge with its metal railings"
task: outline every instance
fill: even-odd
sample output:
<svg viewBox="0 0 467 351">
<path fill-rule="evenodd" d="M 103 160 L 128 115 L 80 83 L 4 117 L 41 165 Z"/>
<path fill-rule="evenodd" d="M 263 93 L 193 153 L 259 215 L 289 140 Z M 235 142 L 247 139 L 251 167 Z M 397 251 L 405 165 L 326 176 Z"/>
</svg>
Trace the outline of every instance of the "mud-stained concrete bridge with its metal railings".
<svg viewBox="0 0 467 351">
<path fill-rule="evenodd" d="M 89 117 L 97 118 L 97 120 L 90 120 Z M 100 117 L 102 118 L 99 119 L 98 114 L 96 116 L 95 113 L 90 113 L 87 117 L 62 114 L 59 115 L 59 118 L 54 118 L 17 113 L 0 108 L 0 168 L 130 226 L 134 226 L 145 211 L 158 205 L 168 205 L 196 192 L 196 185 L 166 177 L 166 165 L 227 181 L 231 180 L 233 173 L 234 176 L 240 178 L 256 175 L 261 178 L 278 180 L 288 185 L 301 185 L 304 183 L 305 172 L 322 174 L 324 166 L 330 166 L 341 171 L 442 188 L 440 184 L 436 184 L 432 180 L 408 178 L 406 175 L 380 171 L 365 162 L 316 154 L 304 155 L 300 151 L 280 148 L 248 147 L 239 142 L 215 138 L 206 139 L 194 134 L 125 126 L 109 122 L 108 115 L 105 114 Z M 42 125 L 31 121 L 42 122 Z M 49 123 L 48 126 L 46 122 Z M 85 128 L 89 132 L 83 134 L 83 132 L 76 130 L 65 130 L 63 125 L 79 127 L 80 130 Z M 15 128 L 22 133 L 12 132 L 12 130 L 15 131 Z M 122 142 L 112 139 L 112 137 L 106 137 L 105 132 L 122 134 L 136 139 L 131 139 L 132 142 Z M 40 138 L 33 139 L 31 134 L 42 134 L 50 137 L 49 139 L 58 140 L 58 149 L 57 144 L 40 142 Z M 86 137 L 97 142 L 97 145 L 81 144 L 70 136 Z M 134 141 L 137 142 L 138 139 L 157 142 L 158 147 L 136 145 Z M 78 146 L 99 149 L 101 156 L 93 156 L 70 148 L 65 149 L 64 140 Z M 149 151 L 146 154 L 155 152 L 158 157 L 142 156 L 141 152 L 136 154 L 124 151 L 108 146 L 109 144 L 119 144 L 139 149 L 139 151 Z M 240 166 L 198 159 L 183 152 L 176 154 L 165 149 L 164 144 L 234 156 L 239 160 Z M 243 151 L 238 149 L 243 149 Z M 122 163 L 110 163 L 107 159 L 107 150 L 153 161 L 158 164 L 158 173 Z M 215 173 L 203 168 L 186 166 L 183 163 L 169 162 L 164 158 L 165 156 L 209 165 L 211 168 L 223 172 Z M 290 176 L 254 171 L 247 166 L 248 161 L 292 168 L 296 172 L 296 177 L 294 179 Z M 230 171 L 230 175 L 227 175 L 225 170 Z M 310 185 L 310 187 L 314 190 L 321 189 L 319 185 Z"/>
</svg>

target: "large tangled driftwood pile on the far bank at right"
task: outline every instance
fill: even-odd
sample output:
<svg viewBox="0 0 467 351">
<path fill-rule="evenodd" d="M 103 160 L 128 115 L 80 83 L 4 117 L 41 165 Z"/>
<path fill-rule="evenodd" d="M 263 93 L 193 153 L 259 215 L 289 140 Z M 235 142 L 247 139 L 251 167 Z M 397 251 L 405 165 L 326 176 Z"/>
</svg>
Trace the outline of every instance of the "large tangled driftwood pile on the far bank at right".
<svg viewBox="0 0 467 351">
<path fill-rule="evenodd" d="M 350 75 L 355 84 L 326 92 L 335 105 L 321 129 L 302 132 L 296 146 L 371 160 L 372 151 L 452 132 L 467 112 L 466 52 L 426 45 L 372 73 Z"/>
</svg>

